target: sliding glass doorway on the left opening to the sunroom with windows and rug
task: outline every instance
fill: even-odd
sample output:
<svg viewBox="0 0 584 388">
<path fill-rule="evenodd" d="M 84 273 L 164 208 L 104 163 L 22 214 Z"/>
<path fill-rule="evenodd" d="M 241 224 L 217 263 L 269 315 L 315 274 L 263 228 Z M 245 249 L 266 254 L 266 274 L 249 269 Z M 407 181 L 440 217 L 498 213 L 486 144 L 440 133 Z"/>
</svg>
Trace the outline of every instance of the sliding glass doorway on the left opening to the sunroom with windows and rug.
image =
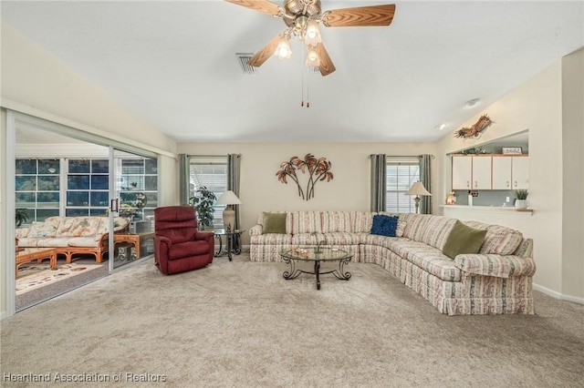
<svg viewBox="0 0 584 388">
<path fill-rule="evenodd" d="M 16 252 L 16 266 L 12 267 L 16 268 L 12 275 L 15 311 L 149 259 L 153 239 L 148 224 L 152 224 L 153 209 L 158 204 L 157 158 L 114 149 L 106 141 L 87 138 L 74 128 L 13 114 L 16 119 L 9 131 L 14 131 L 14 187 L 8 182 L 7 190 L 14 192 L 14 201 L 6 196 L 6 204 L 27 214 L 27 220 L 16 228 L 16 237 L 22 235 L 19 230 L 43 230 L 47 223 L 74 217 L 85 222 L 85 231 L 89 227 L 116 230 L 117 220 L 128 220 L 120 230 L 122 237 L 113 239 L 113 233 L 109 233 L 110 238 L 106 236 L 100 260 L 79 250 L 70 257 L 57 254 L 53 265 L 51 252 L 46 250 L 21 263 L 23 257 Z M 120 209 L 111 208 L 114 199 Z M 60 224 L 53 226 L 57 231 Z M 33 236 L 26 234 L 25 239 Z"/>
</svg>

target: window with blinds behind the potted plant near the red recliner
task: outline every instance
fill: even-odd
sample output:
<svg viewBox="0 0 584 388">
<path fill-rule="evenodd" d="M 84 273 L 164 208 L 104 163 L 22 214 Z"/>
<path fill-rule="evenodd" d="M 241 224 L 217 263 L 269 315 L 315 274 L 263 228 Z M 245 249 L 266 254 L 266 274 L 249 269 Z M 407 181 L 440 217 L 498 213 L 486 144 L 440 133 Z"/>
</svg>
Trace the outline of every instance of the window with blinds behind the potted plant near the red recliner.
<svg viewBox="0 0 584 388">
<path fill-rule="evenodd" d="M 227 157 L 191 157 L 190 196 L 202 187 L 212 191 L 217 199 L 227 189 Z M 214 205 L 214 228 L 223 228 L 225 205 Z"/>
</svg>

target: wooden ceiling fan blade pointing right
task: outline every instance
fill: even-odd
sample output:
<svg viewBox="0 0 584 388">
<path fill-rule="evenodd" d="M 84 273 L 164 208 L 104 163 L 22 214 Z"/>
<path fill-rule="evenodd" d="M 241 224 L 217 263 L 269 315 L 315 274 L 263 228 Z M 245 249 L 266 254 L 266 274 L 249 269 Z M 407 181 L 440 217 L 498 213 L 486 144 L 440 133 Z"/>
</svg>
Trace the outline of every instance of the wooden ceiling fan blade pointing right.
<svg viewBox="0 0 584 388">
<path fill-rule="evenodd" d="M 333 9 L 322 15 L 322 23 L 328 27 L 390 26 L 393 14 L 394 4 Z"/>
</svg>

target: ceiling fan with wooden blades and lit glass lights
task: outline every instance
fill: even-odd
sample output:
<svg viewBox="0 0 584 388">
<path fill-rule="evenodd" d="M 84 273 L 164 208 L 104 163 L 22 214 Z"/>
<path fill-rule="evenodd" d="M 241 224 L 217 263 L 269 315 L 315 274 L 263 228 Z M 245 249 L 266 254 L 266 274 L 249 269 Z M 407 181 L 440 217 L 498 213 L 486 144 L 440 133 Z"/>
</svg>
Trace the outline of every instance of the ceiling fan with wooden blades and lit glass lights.
<svg viewBox="0 0 584 388">
<path fill-rule="evenodd" d="M 276 35 L 248 61 L 250 66 L 259 67 L 276 55 L 280 59 L 291 55 L 289 40 L 298 37 L 308 49 L 307 66 L 316 66 L 320 74 L 328 76 L 336 70 L 322 44 L 318 25 L 327 27 L 347 26 L 390 26 L 395 13 L 395 5 L 369 5 L 354 8 L 333 9 L 322 12 L 320 0 L 284 0 L 284 6 L 268 0 L 225 0 L 235 5 L 282 17 L 287 29 Z"/>
</svg>

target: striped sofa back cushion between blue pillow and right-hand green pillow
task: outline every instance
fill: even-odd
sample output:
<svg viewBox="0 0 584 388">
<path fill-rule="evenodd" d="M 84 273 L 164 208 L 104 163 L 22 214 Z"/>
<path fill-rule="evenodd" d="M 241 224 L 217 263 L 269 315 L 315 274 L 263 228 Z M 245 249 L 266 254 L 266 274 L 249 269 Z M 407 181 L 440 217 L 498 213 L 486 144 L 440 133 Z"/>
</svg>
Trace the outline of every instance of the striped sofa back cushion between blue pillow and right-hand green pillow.
<svg viewBox="0 0 584 388">
<path fill-rule="evenodd" d="M 403 230 L 403 237 L 414 241 L 443 249 L 444 243 L 454 227 L 456 219 L 445 216 L 433 216 L 428 214 L 412 214 Z"/>
</svg>

